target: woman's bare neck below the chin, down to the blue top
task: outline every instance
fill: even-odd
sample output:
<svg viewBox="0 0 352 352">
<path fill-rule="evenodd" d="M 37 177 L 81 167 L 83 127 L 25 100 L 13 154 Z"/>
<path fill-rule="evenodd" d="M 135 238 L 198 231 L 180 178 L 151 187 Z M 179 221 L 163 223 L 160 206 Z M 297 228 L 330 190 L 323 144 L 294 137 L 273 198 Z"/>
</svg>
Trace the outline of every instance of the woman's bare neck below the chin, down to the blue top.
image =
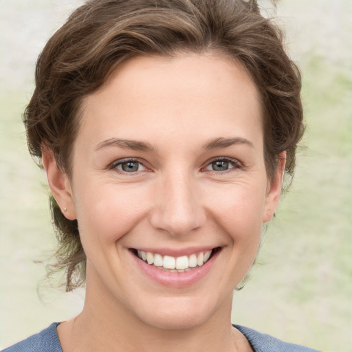
<svg viewBox="0 0 352 352">
<path fill-rule="evenodd" d="M 232 296 L 210 320 L 190 329 L 159 329 L 147 325 L 112 296 L 108 297 L 104 285 L 94 287 L 93 292 L 88 277 L 82 313 L 58 325 L 63 352 L 252 351 L 248 340 L 230 324 Z"/>
</svg>

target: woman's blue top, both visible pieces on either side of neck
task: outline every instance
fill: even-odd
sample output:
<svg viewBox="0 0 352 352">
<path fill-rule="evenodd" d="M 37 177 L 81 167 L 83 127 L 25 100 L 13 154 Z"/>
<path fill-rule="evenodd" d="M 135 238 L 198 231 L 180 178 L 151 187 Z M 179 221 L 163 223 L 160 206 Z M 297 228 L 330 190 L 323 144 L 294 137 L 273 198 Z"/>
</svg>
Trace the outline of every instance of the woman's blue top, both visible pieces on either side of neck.
<svg viewBox="0 0 352 352">
<path fill-rule="evenodd" d="M 58 340 L 57 326 L 58 322 L 54 322 L 47 329 L 4 349 L 3 352 L 63 352 Z M 241 327 L 240 325 L 234 325 L 234 327 L 239 329 L 248 339 L 254 352 L 317 352 L 315 349 L 283 342 L 248 327 Z"/>
</svg>

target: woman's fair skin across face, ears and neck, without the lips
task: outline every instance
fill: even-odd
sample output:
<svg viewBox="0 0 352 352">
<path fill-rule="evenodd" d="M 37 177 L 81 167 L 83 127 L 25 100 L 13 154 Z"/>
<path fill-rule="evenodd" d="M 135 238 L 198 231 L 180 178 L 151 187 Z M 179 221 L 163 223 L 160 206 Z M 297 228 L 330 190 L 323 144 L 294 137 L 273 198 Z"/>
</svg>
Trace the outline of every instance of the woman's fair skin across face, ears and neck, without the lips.
<svg viewBox="0 0 352 352">
<path fill-rule="evenodd" d="M 52 194 L 78 219 L 87 254 L 83 312 L 58 326 L 64 352 L 252 351 L 231 326 L 232 292 L 272 219 L 285 166 L 282 153 L 267 177 L 261 119 L 243 67 L 210 54 L 133 58 L 85 98 L 72 177 L 43 150 Z M 137 171 L 124 172 L 126 158 Z M 214 170 L 216 158 L 224 169 Z M 186 287 L 155 283 L 130 250 L 204 246 L 221 250 Z"/>
</svg>

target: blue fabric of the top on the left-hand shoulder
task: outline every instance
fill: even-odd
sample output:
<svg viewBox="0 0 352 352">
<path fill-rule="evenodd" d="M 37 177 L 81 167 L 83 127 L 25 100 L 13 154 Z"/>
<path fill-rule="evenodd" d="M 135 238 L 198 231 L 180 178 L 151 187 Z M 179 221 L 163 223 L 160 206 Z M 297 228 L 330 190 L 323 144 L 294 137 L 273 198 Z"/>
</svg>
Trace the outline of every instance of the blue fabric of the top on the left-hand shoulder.
<svg viewBox="0 0 352 352">
<path fill-rule="evenodd" d="M 53 322 L 50 327 L 40 333 L 30 336 L 2 352 L 63 352 L 58 340 L 57 326 L 58 322 Z"/>
</svg>

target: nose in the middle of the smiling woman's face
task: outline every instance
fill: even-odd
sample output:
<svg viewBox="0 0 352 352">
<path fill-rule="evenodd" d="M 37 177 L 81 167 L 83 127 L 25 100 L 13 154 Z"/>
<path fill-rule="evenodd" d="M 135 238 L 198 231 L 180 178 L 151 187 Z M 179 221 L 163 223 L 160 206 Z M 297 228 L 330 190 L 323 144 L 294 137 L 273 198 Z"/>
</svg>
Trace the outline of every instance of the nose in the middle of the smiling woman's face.
<svg viewBox="0 0 352 352">
<path fill-rule="evenodd" d="M 150 214 L 153 228 L 182 236 L 201 228 L 206 211 L 197 181 L 186 173 L 173 173 L 161 181 Z"/>
</svg>

